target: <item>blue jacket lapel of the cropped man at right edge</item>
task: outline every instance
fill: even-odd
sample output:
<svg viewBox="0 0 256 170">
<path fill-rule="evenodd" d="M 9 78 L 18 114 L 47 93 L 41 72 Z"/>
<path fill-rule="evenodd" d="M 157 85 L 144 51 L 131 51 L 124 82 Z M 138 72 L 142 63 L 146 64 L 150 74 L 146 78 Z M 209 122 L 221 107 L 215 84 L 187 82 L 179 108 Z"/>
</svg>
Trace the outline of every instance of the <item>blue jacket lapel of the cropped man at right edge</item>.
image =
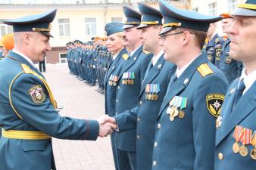
<svg viewBox="0 0 256 170">
<path fill-rule="evenodd" d="M 237 80 L 238 83 L 238 80 Z M 236 83 L 236 85 L 237 85 Z M 224 119 L 220 129 L 217 130 L 216 146 L 233 130 L 236 128 L 236 125 L 239 125 L 246 116 L 248 116 L 256 107 L 256 82 L 251 85 L 251 88 L 246 91 L 246 93 L 240 98 L 239 102 L 236 104 L 236 107 L 231 111 L 233 106 L 235 92 L 230 96 L 230 102 L 226 103 L 226 110 L 223 110 L 222 113 L 225 113 Z M 226 99 L 225 99 L 226 100 Z M 230 111 L 230 113 L 229 113 Z"/>
</svg>

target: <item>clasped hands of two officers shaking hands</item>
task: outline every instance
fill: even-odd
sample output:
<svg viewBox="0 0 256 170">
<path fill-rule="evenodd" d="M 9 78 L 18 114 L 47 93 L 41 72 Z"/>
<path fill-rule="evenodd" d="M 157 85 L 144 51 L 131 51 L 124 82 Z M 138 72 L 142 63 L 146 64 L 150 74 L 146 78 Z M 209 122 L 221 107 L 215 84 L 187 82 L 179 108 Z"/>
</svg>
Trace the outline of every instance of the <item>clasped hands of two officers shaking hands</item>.
<svg viewBox="0 0 256 170">
<path fill-rule="evenodd" d="M 97 119 L 99 124 L 98 136 L 101 138 L 108 136 L 117 129 L 117 122 L 113 117 L 108 115 L 101 116 Z"/>
</svg>

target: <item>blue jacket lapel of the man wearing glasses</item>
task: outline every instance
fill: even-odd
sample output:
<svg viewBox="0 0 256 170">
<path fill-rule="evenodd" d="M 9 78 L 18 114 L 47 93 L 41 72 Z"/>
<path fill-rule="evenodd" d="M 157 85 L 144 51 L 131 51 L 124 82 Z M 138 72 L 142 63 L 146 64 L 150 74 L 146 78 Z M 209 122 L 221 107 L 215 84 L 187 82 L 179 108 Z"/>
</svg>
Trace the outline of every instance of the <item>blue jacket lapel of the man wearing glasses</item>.
<svg viewBox="0 0 256 170">
<path fill-rule="evenodd" d="M 186 68 L 183 74 L 178 79 L 176 79 L 174 83 L 172 82 L 176 75 L 173 74 L 167 88 L 167 94 L 165 95 L 164 101 L 161 105 L 158 118 L 161 116 L 161 113 L 163 112 L 167 104 L 169 104 L 170 100 L 174 96 L 179 95 L 180 92 L 183 91 L 189 85 L 190 79 L 192 79 L 192 76 L 197 70 L 198 66 L 200 66 L 202 63 L 207 63 L 207 62 L 208 62 L 208 58 L 206 57 L 206 54 L 201 54 L 188 66 L 188 68 Z"/>
</svg>

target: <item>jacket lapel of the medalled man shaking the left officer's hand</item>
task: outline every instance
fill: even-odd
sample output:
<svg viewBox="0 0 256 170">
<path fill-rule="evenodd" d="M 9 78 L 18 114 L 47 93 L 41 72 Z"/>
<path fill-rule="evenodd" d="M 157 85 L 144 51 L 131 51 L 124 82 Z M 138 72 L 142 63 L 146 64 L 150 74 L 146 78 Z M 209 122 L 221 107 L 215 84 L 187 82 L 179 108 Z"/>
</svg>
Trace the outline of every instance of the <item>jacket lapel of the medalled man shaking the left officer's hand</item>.
<svg viewBox="0 0 256 170">
<path fill-rule="evenodd" d="M 149 71 L 149 73 L 147 74 L 145 79 L 143 80 L 142 88 L 140 90 L 139 95 L 142 95 L 143 91 L 145 90 L 145 86 L 147 84 L 150 84 L 155 79 L 155 77 L 158 76 L 158 74 L 161 72 L 163 66 L 164 66 L 164 54 L 158 59 L 158 62 L 155 64 L 155 66 L 153 66 L 151 68 L 151 70 Z"/>
</svg>

